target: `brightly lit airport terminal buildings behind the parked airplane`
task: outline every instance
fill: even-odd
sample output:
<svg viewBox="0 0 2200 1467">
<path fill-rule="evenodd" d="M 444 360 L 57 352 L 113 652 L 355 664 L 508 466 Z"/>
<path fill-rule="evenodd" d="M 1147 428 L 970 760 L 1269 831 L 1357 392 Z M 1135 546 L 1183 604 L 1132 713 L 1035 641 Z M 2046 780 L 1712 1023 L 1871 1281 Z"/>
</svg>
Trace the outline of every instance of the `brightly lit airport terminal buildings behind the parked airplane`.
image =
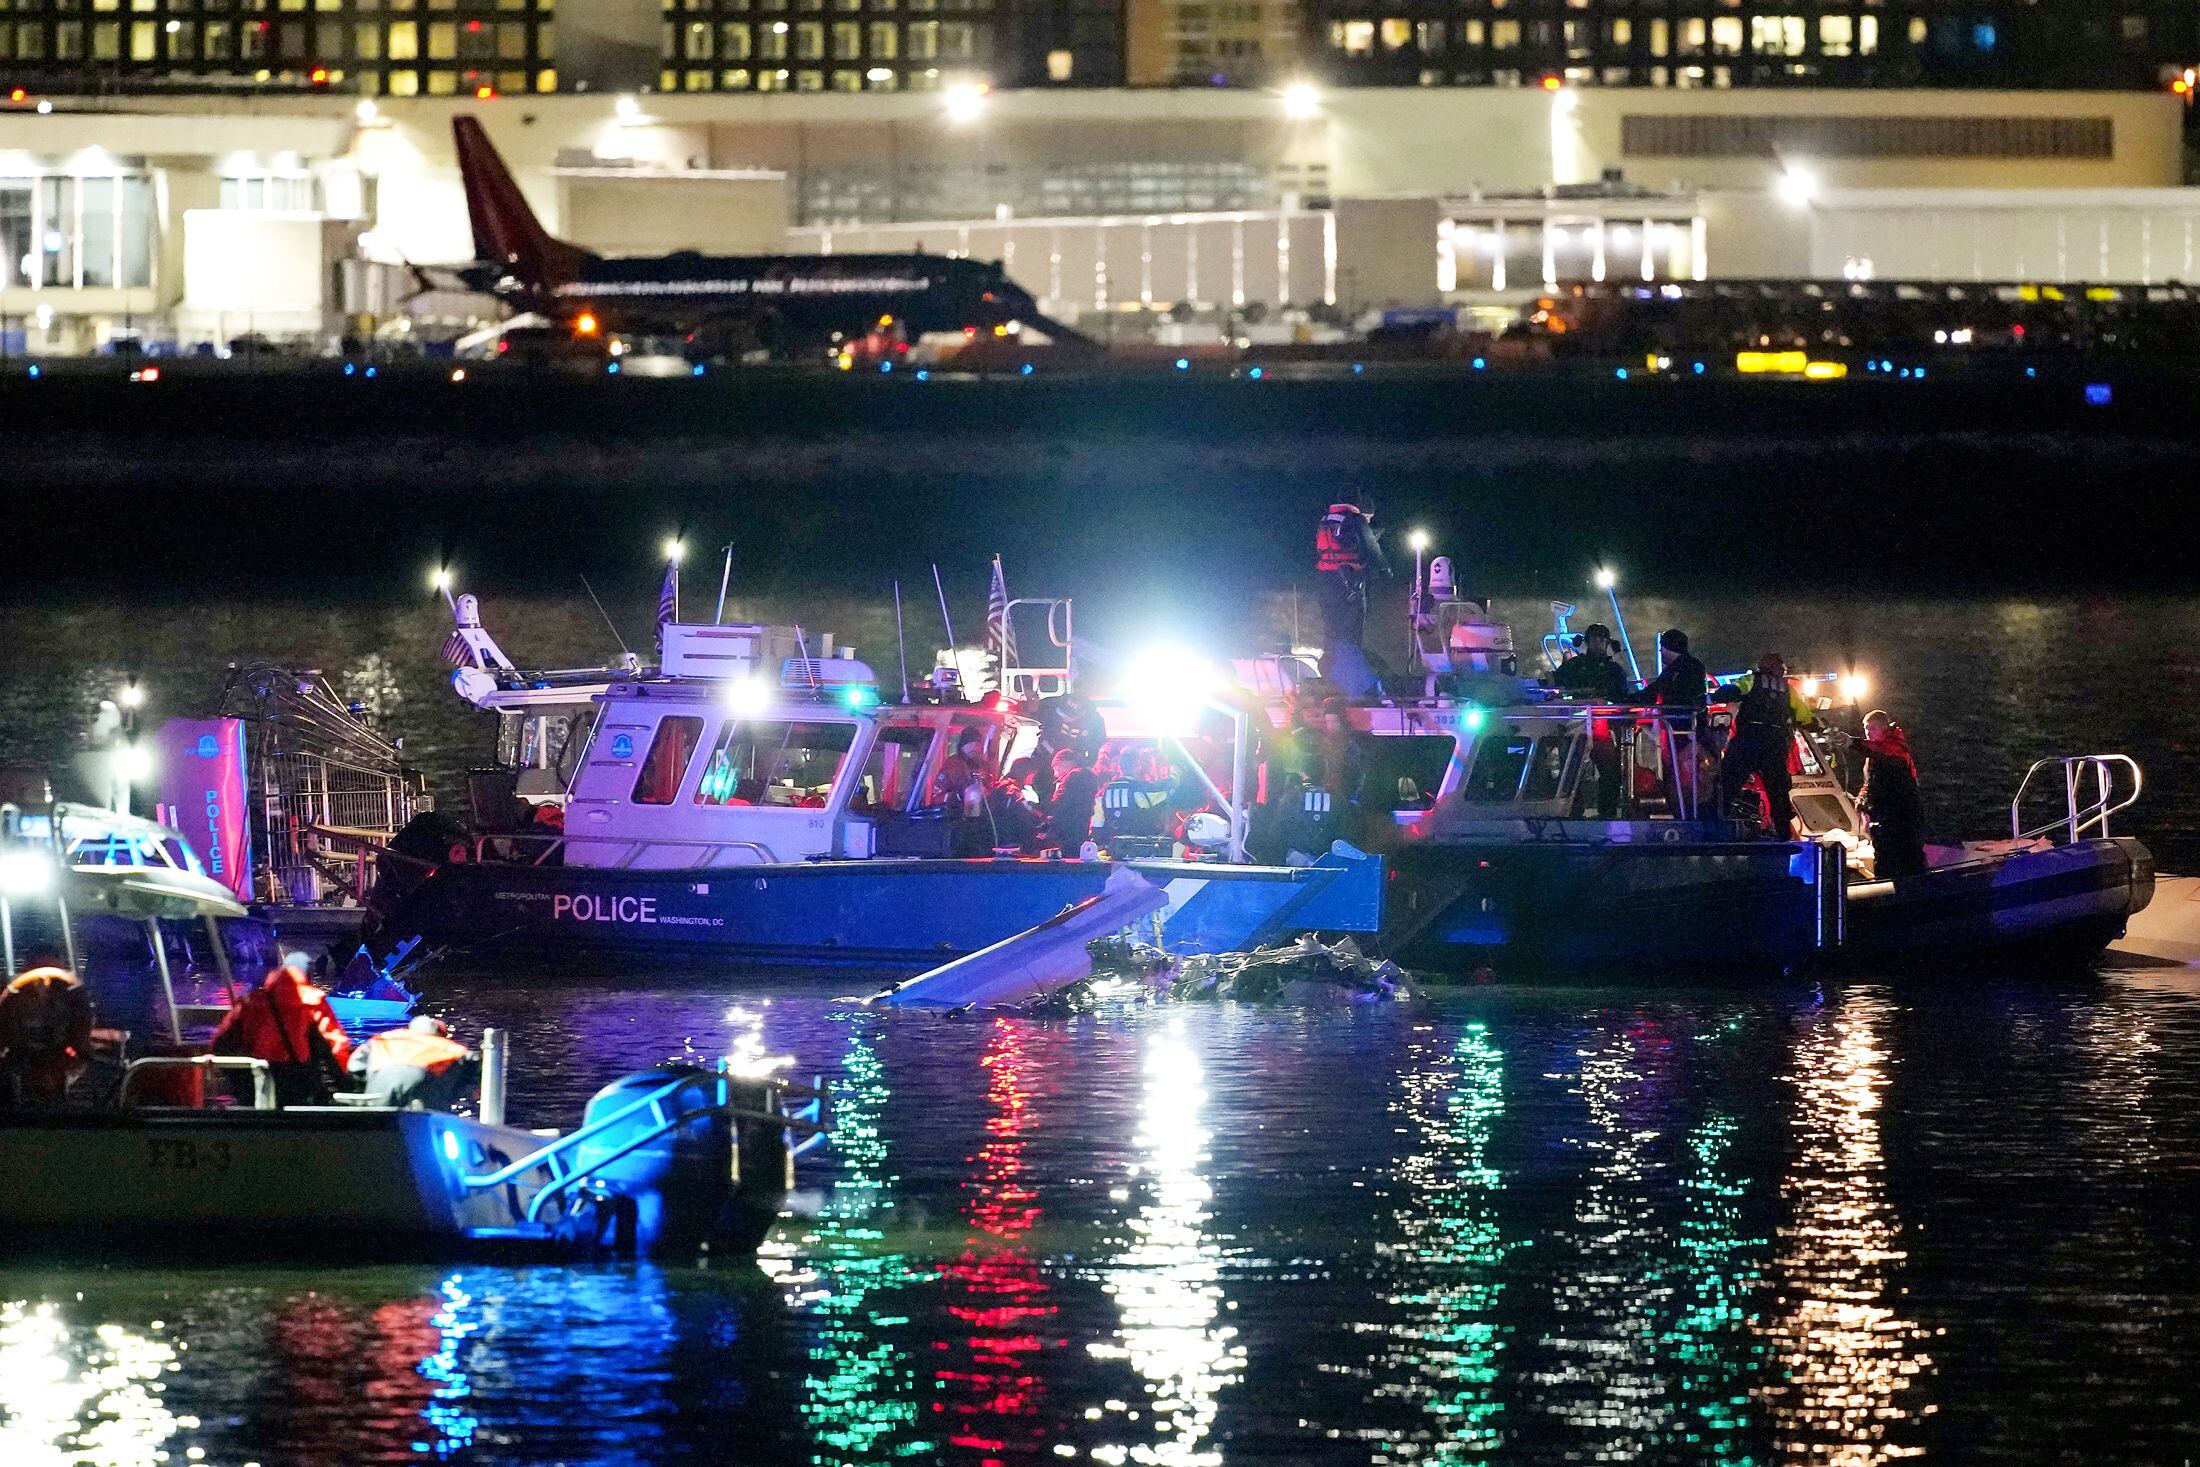
<svg viewBox="0 0 2200 1467">
<path fill-rule="evenodd" d="M 2193 13 L 2057 9 L 15 0 L 0 345 L 491 315 L 411 268 L 473 255 L 460 112 L 587 249 L 997 257 L 1069 321 L 2193 279 Z"/>
</svg>

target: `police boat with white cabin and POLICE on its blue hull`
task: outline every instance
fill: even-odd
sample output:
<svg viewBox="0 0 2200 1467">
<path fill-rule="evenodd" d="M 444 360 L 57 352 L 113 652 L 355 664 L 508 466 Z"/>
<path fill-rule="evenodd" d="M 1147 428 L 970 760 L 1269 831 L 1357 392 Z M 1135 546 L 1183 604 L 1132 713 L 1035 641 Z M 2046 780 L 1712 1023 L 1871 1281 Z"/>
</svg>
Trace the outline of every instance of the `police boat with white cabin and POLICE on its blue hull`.
<svg viewBox="0 0 2200 1467">
<path fill-rule="evenodd" d="M 849 649 L 799 629 L 667 622 L 656 669 L 535 675 L 482 631 L 471 596 L 453 605 L 453 686 L 499 715 L 504 768 L 475 783 L 471 829 L 416 820 L 381 853 L 385 941 L 418 935 L 488 963 L 554 952 L 915 972 L 1102 895 L 1118 867 L 1166 893 L 1148 937 L 1170 952 L 1379 926 L 1379 860 L 1338 847 L 1250 862 L 1247 809 L 1203 772 L 1221 812 L 1212 851 L 1016 853 L 999 812 L 942 770 L 961 759 L 997 776 L 1038 750 L 1047 699 L 1012 693 L 1067 691 L 1067 647 L 1063 666 L 1010 669 L 975 702 L 946 682 L 889 704 Z M 1250 750 L 1241 739 L 1225 757 L 1245 770 Z"/>
</svg>

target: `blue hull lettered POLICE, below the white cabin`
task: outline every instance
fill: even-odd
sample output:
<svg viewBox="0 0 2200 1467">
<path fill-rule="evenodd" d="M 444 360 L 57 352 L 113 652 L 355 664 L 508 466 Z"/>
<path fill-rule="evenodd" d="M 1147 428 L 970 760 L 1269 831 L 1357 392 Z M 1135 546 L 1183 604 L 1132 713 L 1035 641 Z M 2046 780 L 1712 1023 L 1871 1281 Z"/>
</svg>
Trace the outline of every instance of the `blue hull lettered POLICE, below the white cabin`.
<svg viewBox="0 0 2200 1467">
<path fill-rule="evenodd" d="M 1173 952 L 1230 952 L 1307 930 L 1373 933 L 1384 862 L 1126 862 L 1168 895 Z M 713 871 L 447 864 L 387 913 L 473 961 L 653 957 L 913 972 L 990 948 L 1100 895 L 1113 862 L 843 860 Z"/>
</svg>

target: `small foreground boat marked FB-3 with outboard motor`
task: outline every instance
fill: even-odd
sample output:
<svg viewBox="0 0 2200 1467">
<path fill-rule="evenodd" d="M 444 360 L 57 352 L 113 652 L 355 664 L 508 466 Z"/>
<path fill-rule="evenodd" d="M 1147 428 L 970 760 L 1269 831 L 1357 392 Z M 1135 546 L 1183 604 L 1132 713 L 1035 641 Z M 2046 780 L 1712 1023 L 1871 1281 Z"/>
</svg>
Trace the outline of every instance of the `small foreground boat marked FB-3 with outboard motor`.
<svg viewBox="0 0 2200 1467">
<path fill-rule="evenodd" d="M 0 1232 L 101 1258 L 748 1254 L 825 1135 L 821 1091 L 693 1067 L 612 1082 L 563 1135 L 504 1124 L 502 1080 L 482 1117 L 277 1106 L 264 1060 L 143 1058 L 108 1104 L 0 1111 Z"/>
</svg>

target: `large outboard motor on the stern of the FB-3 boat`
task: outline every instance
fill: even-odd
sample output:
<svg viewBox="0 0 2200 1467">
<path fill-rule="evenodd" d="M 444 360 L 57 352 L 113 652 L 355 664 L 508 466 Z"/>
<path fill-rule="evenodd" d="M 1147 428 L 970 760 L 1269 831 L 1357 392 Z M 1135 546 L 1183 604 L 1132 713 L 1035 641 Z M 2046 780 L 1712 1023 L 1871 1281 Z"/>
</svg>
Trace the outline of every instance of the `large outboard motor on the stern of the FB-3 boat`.
<svg viewBox="0 0 2200 1467">
<path fill-rule="evenodd" d="M 638 1254 L 752 1251 L 794 1183 L 794 1155 L 781 1126 L 730 1111 L 777 1115 L 777 1089 L 770 1080 L 669 1065 L 596 1091 L 583 1128 L 669 1091 L 574 1148 L 574 1166 L 590 1172 L 590 1192 L 601 1203 L 616 1201 L 618 1232 L 627 1234 L 618 1243 Z M 651 1135 L 673 1115 L 684 1119 Z"/>
</svg>

